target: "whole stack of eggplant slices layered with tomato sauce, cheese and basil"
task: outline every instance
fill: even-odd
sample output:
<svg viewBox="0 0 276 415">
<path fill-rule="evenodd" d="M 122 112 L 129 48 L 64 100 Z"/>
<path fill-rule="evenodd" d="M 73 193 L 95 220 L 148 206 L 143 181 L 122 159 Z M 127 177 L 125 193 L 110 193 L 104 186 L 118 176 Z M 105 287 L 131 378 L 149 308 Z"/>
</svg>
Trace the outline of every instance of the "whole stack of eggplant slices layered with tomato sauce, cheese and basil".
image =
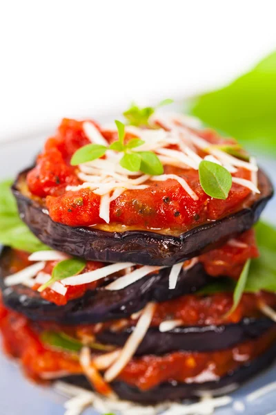
<svg viewBox="0 0 276 415">
<path fill-rule="evenodd" d="M 276 232 L 253 228 L 272 185 L 197 120 L 124 116 L 61 122 L 12 185 L 28 228 L 1 185 L 3 346 L 104 396 L 224 394 L 275 356 Z"/>
</svg>

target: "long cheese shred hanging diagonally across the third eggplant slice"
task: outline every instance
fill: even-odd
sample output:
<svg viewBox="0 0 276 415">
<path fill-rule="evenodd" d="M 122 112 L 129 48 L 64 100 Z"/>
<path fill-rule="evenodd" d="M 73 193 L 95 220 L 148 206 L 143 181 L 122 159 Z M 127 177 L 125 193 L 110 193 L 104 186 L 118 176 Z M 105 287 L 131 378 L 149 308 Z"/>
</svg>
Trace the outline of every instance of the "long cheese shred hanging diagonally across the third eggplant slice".
<svg viewBox="0 0 276 415">
<path fill-rule="evenodd" d="M 128 340 L 124 344 L 123 349 L 121 349 L 119 358 L 104 374 L 104 378 L 107 382 L 111 382 L 112 380 L 117 378 L 117 376 L 121 373 L 124 367 L 128 364 L 132 356 L 134 356 L 135 352 L 139 347 L 139 344 L 144 339 L 144 336 L 148 331 L 154 313 L 155 304 L 148 303 L 144 308 L 143 312 L 141 313 L 141 317 L 139 317 L 135 329 L 130 334 Z"/>
</svg>

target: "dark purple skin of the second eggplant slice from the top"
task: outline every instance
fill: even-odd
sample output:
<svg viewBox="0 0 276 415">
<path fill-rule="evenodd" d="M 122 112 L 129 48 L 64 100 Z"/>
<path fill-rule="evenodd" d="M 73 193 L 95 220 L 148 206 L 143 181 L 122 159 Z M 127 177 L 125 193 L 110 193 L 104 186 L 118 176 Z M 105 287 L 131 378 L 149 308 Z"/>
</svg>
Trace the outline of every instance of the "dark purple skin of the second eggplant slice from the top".
<svg viewBox="0 0 276 415">
<path fill-rule="evenodd" d="M 69 301 L 65 306 L 57 306 L 22 284 L 5 286 L 5 277 L 11 273 L 11 254 L 10 248 L 3 248 L 0 255 L 0 289 L 3 302 L 8 308 L 36 321 L 93 324 L 126 318 L 144 308 L 149 301 L 163 302 L 193 293 L 210 281 L 203 266 L 196 264 L 190 270 L 182 270 L 175 290 L 169 290 L 170 269 L 164 268 L 123 290 L 108 291 L 98 287 L 94 291 L 87 291 L 81 298 Z"/>
</svg>

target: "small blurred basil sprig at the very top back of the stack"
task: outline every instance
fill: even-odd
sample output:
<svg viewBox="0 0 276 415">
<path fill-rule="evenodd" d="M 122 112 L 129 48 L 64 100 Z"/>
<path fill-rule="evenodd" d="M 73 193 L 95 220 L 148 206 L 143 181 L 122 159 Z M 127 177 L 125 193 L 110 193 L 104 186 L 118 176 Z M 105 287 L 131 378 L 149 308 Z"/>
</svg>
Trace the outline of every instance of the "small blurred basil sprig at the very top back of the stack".
<svg viewBox="0 0 276 415">
<path fill-rule="evenodd" d="M 129 125 L 135 125 L 135 127 L 148 127 L 148 121 L 150 116 L 155 112 L 159 107 L 164 105 L 172 104 L 173 100 L 167 98 L 159 102 L 156 107 L 138 107 L 137 104 L 132 103 L 130 108 L 126 110 L 123 115 L 128 121 Z"/>
</svg>

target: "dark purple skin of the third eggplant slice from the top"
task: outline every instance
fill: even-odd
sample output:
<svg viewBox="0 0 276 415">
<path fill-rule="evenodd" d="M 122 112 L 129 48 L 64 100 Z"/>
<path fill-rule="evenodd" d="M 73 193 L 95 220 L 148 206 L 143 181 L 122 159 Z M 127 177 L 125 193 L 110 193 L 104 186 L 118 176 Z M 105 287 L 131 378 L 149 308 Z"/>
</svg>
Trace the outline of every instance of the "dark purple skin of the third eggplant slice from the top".
<svg viewBox="0 0 276 415">
<path fill-rule="evenodd" d="M 235 324 L 216 326 L 181 326 L 161 333 L 158 327 L 150 327 L 135 355 L 163 355 L 172 351 L 208 352 L 230 349 L 242 342 L 259 338 L 268 329 L 276 326 L 269 318 L 245 317 Z M 123 347 L 135 326 L 119 332 L 103 331 L 97 334 L 97 341 Z"/>
</svg>

